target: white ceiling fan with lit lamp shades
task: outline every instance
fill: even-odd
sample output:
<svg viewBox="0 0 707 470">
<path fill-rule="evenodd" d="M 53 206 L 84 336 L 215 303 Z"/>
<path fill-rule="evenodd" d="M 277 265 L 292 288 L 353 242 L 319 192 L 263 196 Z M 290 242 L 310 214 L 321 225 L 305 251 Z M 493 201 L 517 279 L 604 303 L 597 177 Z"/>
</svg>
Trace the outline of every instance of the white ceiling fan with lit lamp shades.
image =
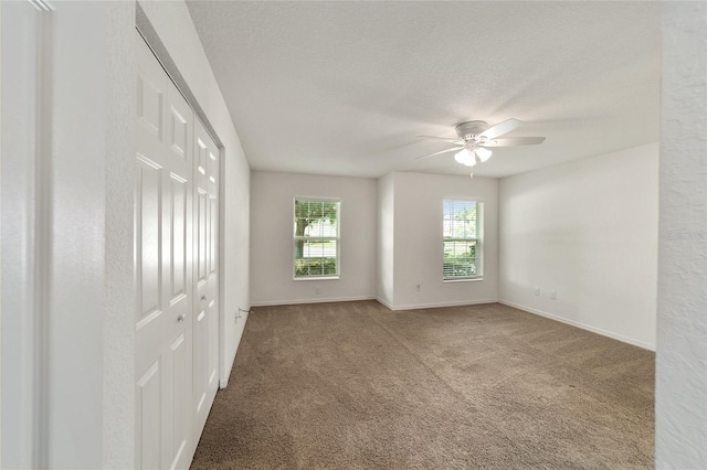
<svg viewBox="0 0 707 470">
<path fill-rule="evenodd" d="M 482 163 L 490 158 L 492 151 L 488 147 L 531 146 L 542 143 L 545 141 L 545 137 L 509 137 L 505 139 L 497 139 L 498 136 L 510 132 L 521 124 L 523 121 L 518 119 L 507 119 L 496 126 L 488 127 L 486 121 L 469 120 L 467 122 L 462 122 L 454 128 L 458 139 L 452 139 L 449 137 L 418 136 L 422 139 L 442 140 L 455 145 L 455 147 L 446 150 L 420 157 L 418 160 L 456 151 L 454 160 L 458 163 L 465 164 L 466 167 L 474 167 L 476 164 L 476 158 L 478 158 Z M 471 178 L 474 178 L 473 170 Z"/>
</svg>

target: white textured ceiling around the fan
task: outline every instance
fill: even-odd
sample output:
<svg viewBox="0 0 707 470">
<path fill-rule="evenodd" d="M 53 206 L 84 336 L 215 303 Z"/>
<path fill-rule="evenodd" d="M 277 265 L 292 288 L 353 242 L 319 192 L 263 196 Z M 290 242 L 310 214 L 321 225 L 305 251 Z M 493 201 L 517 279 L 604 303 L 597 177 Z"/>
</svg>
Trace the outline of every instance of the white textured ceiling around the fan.
<svg viewBox="0 0 707 470">
<path fill-rule="evenodd" d="M 517 118 L 476 175 L 658 140 L 658 2 L 190 1 L 253 170 L 465 174 L 454 126 Z"/>
</svg>

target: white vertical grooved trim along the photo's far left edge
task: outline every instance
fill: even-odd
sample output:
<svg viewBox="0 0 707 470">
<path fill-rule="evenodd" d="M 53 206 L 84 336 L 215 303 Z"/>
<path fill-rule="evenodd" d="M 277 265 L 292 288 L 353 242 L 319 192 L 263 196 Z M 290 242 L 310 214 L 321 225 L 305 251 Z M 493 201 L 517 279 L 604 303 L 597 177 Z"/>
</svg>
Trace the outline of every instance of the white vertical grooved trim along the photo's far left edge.
<svg viewBox="0 0 707 470">
<path fill-rule="evenodd" d="M 53 14 L 41 2 L 3 3 L 1 232 L 2 463 L 43 468 L 48 461 L 49 318 L 52 285 Z M 3 51 L 4 52 L 4 51 Z M 6 96 L 7 97 L 7 96 Z M 13 126 L 9 126 L 12 118 Z M 15 132 L 20 128 L 22 131 Z M 21 154 L 19 160 L 17 156 Z M 15 157 L 13 159 L 13 156 Z M 8 184 L 11 181 L 10 184 Z M 9 256 L 8 256 L 9 255 Z"/>
</svg>

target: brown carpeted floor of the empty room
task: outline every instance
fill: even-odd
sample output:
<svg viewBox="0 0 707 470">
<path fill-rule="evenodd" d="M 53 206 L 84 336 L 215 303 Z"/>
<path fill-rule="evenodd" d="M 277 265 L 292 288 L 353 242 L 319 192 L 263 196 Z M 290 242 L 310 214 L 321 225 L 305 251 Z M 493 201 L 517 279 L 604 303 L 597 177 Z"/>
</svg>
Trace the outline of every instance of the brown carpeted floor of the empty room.
<svg viewBox="0 0 707 470">
<path fill-rule="evenodd" d="M 260 307 L 193 468 L 653 468 L 654 353 L 498 303 Z"/>
</svg>

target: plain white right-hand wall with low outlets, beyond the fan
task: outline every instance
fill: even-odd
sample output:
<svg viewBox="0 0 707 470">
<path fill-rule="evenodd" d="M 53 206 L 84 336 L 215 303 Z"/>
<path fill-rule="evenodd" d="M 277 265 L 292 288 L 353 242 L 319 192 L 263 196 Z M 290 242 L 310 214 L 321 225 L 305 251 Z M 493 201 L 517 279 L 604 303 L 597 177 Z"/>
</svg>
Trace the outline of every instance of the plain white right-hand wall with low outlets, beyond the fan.
<svg viewBox="0 0 707 470">
<path fill-rule="evenodd" d="M 503 179 L 500 300 L 654 349 L 657 164 L 651 143 Z"/>
</svg>

